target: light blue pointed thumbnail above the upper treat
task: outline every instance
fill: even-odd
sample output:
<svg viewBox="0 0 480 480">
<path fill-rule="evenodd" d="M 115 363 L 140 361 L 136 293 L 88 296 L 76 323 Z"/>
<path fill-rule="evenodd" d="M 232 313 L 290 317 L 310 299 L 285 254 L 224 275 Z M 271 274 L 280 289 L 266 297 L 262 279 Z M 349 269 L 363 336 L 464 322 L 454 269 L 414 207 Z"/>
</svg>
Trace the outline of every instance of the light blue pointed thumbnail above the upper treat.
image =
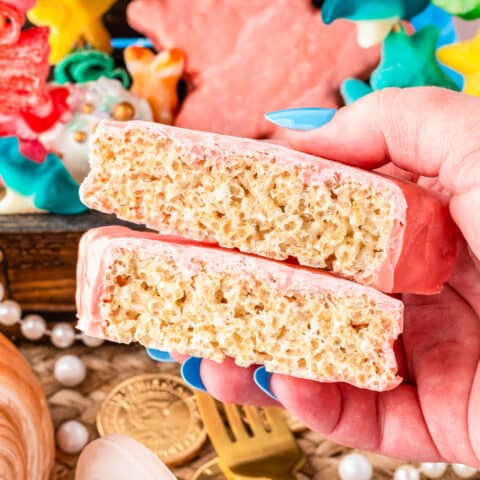
<svg viewBox="0 0 480 480">
<path fill-rule="evenodd" d="M 290 108 L 265 114 L 265 118 L 283 128 L 314 130 L 330 122 L 337 113 L 334 108 Z"/>
</svg>

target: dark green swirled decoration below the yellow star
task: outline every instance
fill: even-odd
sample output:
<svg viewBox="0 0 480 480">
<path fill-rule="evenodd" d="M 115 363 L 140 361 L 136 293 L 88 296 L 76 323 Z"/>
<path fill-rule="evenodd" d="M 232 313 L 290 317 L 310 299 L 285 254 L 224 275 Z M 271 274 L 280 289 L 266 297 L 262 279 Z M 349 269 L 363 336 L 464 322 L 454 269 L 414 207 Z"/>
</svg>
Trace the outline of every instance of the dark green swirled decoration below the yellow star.
<svg viewBox="0 0 480 480">
<path fill-rule="evenodd" d="M 130 86 L 130 77 L 122 68 L 115 68 L 113 58 L 98 50 L 79 50 L 65 57 L 54 70 L 55 82 L 85 83 L 100 77 L 119 80 L 124 88 Z"/>
</svg>

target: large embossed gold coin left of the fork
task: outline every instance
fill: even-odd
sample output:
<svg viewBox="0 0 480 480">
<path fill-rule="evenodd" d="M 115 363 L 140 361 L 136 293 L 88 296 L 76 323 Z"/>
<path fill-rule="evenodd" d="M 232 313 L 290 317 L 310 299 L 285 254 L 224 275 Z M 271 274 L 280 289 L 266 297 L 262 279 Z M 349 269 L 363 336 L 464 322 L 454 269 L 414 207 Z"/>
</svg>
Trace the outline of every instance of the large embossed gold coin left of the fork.
<svg viewBox="0 0 480 480">
<path fill-rule="evenodd" d="M 190 460 L 207 439 L 193 391 L 173 375 L 139 375 L 117 385 L 98 411 L 97 429 L 138 440 L 168 466 Z"/>
</svg>

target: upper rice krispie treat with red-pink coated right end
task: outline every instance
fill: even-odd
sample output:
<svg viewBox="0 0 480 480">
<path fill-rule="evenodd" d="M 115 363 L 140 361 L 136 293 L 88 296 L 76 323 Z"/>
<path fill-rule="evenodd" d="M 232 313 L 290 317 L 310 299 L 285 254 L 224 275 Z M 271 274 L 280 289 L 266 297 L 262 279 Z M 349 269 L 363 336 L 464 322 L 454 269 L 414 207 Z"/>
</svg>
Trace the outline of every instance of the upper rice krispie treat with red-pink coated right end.
<svg viewBox="0 0 480 480">
<path fill-rule="evenodd" d="M 438 292 L 455 260 L 442 197 L 280 145 L 106 121 L 90 160 L 84 203 L 162 233 L 293 259 L 384 292 Z"/>
</svg>

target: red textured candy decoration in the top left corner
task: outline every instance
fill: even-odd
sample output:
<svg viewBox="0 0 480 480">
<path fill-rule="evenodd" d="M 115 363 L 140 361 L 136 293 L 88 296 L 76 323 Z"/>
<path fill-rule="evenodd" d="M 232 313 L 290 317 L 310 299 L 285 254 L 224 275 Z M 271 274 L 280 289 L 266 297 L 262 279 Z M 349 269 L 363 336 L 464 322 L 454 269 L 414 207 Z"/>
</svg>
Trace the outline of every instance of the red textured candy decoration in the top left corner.
<svg viewBox="0 0 480 480">
<path fill-rule="evenodd" d="M 21 31 L 24 13 L 0 2 L 0 114 L 13 115 L 45 101 L 48 29 Z"/>
</svg>

